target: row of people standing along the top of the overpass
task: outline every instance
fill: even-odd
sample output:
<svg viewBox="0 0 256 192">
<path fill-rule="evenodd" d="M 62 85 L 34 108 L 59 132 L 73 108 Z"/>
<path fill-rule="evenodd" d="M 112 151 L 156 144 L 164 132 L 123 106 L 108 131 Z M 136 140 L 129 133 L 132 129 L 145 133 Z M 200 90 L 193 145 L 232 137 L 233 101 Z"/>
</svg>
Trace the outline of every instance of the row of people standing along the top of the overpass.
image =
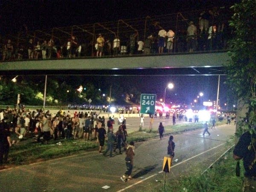
<svg viewBox="0 0 256 192">
<path fill-rule="evenodd" d="M 162 54 L 163 52 L 193 52 L 227 48 L 230 33 L 224 13 L 218 8 L 204 10 L 198 22 L 188 20 L 187 28 L 176 29 L 170 26 L 163 29 L 160 22 L 153 21 L 145 35 L 134 32 L 115 36 L 113 39 L 104 34 L 95 34 L 96 41 L 78 39 L 71 35 L 61 42 L 52 36 L 49 39 L 32 38 L 25 27 L 25 42 L 14 44 L 11 38 L 0 39 L 0 60 L 10 61 L 19 59 L 51 59 L 76 58 L 81 56 L 103 55 L 134 55 L 134 54 Z M 175 46 L 174 46 L 175 44 Z M 174 49 L 175 47 L 175 49 Z"/>
</svg>

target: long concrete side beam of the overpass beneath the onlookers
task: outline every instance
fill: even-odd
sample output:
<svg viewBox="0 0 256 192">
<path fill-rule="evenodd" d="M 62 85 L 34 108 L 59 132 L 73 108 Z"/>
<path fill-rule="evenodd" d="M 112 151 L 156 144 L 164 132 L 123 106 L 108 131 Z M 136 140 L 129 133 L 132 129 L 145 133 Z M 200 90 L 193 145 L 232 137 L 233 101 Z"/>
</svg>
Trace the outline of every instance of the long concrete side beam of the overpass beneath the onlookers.
<svg viewBox="0 0 256 192">
<path fill-rule="evenodd" d="M 224 75 L 224 52 L 122 55 L 0 63 L 0 75 Z"/>
</svg>

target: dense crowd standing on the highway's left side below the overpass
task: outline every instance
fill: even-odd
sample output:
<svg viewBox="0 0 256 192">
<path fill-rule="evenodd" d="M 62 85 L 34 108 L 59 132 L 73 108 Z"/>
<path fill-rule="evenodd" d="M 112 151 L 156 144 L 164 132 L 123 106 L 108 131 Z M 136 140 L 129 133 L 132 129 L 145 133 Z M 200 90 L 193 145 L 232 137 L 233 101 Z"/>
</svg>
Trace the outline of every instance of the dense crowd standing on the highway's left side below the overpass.
<svg viewBox="0 0 256 192">
<path fill-rule="evenodd" d="M 4 161 L 7 160 L 11 145 L 28 138 L 42 144 L 49 143 L 49 140 L 62 139 L 95 140 L 99 143 L 99 153 L 102 153 L 105 139 L 109 137 L 108 133 L 113 133 L 113 124 L 115 124 L 113 116 L 105 119 L 105 116 L 100 116 L 96 111 L 75 111 L 71 114 L 69 111 L 66 113 L 61 109 L 58 113 L 51 114 L 49 111 L 41 109 L 26 110 L 25 107 L 1 109 L 0 119 L 0 144 L 4 143 L 1 145 L 4 146 L 3 150 L 0 147 L 0 163 L 3 163 L 3 159 Z M 119 117 L 117 125 L 119 127 L 113 134 L 113 140 L 111 141 L 109 138 L 108 142 L 115 144 L 116 149 L 119 149 L 121 154 L 121 148 L 126 148 L 126 118 Z"/>
</svg>

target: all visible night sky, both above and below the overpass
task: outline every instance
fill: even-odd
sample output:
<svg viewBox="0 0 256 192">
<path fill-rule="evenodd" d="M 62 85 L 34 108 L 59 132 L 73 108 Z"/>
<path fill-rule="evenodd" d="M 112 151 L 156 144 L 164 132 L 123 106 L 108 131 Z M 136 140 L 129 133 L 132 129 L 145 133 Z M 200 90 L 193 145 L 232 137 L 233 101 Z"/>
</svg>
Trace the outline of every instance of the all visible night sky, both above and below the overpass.
<svg viewBox="0 0 256 192">
<path fill-rule="evenodd" d="M 164 15 L 184 10 L 202 9 L 208 6 L 230 6 L 238 0 L 1 0 L 0 33 L 18 31 L 26 23 L 29 30 L 47 29 L 59 26 L 72 26 L 145 17 L 147 15 Z M 227 5 L 228 4 L 228 5 Z M 105 78 L 105 80 L 104 80 Z M 156 93 L 162 97 L 169 81 L 175 84 L 173 90 L 166 92 L 166 99 L 175 98 L 189 104 L 199 92 L 204 93 L 204 100 L 216 100 L 218 76 L 111 76 L 101 78 L 103 81 L 134 82 L 142 93 Z M 84 77 L 86 81 L 87 77 Z M 89 79 L 89 78 L 88 78 Z M 227 102 L 221 76 L 220 98 Z M 104 84 L 104 83 L 101 83 Z M 108 85 L 105 85 L 106 87 Z M 176 94 L 176 95 L 175 95 Z"/>
</svg>

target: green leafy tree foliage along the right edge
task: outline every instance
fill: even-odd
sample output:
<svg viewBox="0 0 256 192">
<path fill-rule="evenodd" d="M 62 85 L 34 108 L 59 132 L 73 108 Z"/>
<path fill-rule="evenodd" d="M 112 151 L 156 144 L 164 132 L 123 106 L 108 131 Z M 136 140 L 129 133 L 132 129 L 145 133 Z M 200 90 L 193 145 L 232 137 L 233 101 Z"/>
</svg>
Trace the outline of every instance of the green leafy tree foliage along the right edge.
<svg viewBox="0 0 256 192">
<path fill-rule="evenodd" d="M 233 28 L 227 83 L 232 93 L 249 106 L 243 129 L 256 125 L 256 1 L 241 0 L 231 7 L 234 12 L 229 25 Z"/>
</svg>

